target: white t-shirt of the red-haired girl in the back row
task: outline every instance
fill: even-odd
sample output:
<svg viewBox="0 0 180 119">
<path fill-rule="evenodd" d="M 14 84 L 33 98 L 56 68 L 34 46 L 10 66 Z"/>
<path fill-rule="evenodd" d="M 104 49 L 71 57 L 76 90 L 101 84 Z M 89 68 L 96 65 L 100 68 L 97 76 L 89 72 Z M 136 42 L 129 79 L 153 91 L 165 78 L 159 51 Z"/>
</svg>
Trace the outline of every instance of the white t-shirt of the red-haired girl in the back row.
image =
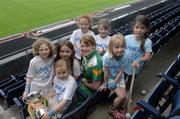
<svg viewBox="0 0 180 119">
<path fill-rule="evenodd" d="M 82 38 L 82 36 L 84 35 L 91 35 L 91 36 L 94 36 L 94 32 L 92 31 L 88 31 L 87 33 L 83 33 L 81 31 L 81 29 L 77 29 L 75 30 L 71 37 L 70 37 L 70 41 L 72 42 L 72 44 L 74 45 L 74 49 L 75 49 L 75 57 L 77 59 L 81 59 L 81 56 L 80 56 L 80 39 Z"/>
</svg>

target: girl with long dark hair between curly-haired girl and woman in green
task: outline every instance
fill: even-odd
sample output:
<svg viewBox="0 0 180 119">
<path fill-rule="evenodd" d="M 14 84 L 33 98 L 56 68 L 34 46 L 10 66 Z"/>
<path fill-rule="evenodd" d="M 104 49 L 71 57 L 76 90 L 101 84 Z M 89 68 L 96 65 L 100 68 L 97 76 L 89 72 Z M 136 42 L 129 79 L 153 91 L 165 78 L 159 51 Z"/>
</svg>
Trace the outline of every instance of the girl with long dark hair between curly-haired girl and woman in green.
<svg viewBox="0 0 180 119">
<path fill-rule="evenodd" d="M 81 75 L 81 67 L 74 55 L 75 51 L 73 44 L 69 40 L 60 41 L 57 46 L 57 56 L 55 61 L 58 59 L 69 61 L 71 74 L 77 80 Z"/>
</svg>

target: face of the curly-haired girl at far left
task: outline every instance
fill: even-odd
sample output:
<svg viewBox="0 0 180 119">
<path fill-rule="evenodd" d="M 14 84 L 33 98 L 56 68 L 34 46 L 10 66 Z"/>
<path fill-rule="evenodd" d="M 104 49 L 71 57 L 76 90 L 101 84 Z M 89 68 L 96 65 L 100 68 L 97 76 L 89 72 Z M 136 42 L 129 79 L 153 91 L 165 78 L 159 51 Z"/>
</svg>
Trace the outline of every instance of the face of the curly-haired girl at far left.
<svg viewBox="0 0 180 119">
<path fill-rule="evenodd" d="M 50 49 L 49 49 L 48 45 L 46 45 L 46 44 L 40 45 L 40 47 L 38 49 L 38 53 L 41 58 L 43 58 L 43 59 L 48 58 L 49 54 L 50 54 Z"/>
</svg>

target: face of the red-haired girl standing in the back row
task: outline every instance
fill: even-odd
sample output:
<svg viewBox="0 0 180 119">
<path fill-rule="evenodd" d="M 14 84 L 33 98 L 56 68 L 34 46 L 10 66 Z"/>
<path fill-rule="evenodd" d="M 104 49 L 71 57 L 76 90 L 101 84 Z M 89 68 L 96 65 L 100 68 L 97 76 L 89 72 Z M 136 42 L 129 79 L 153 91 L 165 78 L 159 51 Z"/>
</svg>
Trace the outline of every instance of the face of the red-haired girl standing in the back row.
<svg viewBox="0 0 180 119">
<path fill-rule="evenodd" d="M 81 18 L 79 20 L 79 28 L 81 29 L 81 31 L 83 33 L 87 33 L 88 30 L 89 30 L 89 27 L 90 27 L 90 23 L 89 23 L 89 21 L 87 19 Z"/>
</svg>

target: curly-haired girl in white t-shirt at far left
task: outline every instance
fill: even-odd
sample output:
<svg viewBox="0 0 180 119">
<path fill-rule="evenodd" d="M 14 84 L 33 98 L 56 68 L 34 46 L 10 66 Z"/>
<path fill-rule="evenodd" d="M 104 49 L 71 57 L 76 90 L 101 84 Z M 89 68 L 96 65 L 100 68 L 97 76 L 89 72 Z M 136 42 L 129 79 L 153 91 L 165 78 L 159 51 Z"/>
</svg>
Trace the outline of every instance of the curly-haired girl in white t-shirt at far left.
<svg viewBox="0 0 180 119">
<path fill-rule="evenodd" d="M 35 57 L 31 59 L 26 74 L 27 79 L 23 99 L 31 92 L 48 91 L 52 86 L 54 45 L 49 39 L 40 38 L 33 43 L 32 52 Z"/>
</svg>

